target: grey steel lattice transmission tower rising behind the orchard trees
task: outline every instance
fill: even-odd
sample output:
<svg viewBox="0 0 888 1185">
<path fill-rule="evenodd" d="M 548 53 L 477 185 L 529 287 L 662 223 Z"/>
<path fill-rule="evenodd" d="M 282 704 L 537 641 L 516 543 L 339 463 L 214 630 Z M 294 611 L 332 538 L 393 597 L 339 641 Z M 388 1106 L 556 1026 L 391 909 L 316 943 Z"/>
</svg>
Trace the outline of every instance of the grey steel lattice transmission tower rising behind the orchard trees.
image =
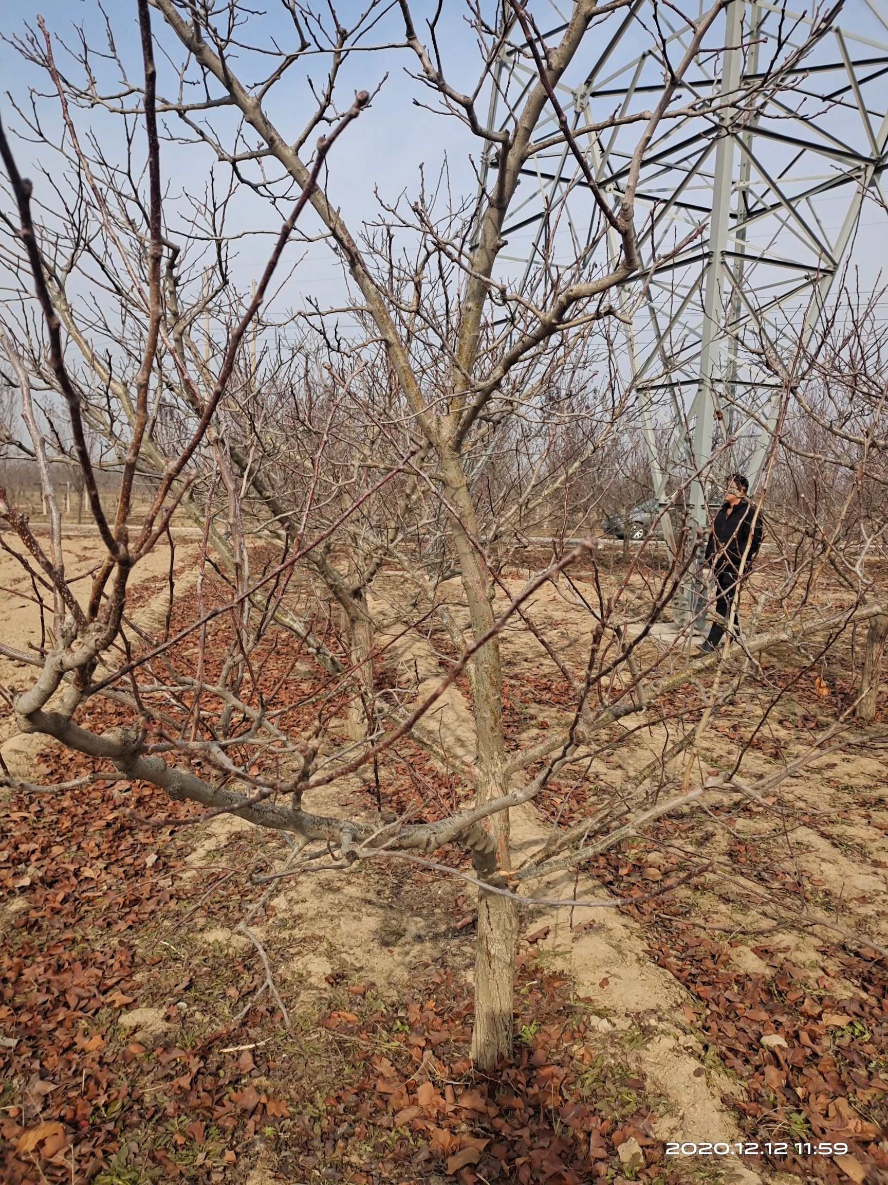
<svg viewBox="0 0 888 1185">
<path fill-rule="evenodd" d="M 554 44 L 568 0 L 532 7 L 542 41 Z M 661 124 L 645 155 L 636 199 L 643 267 L 636 290 L 620 297 L 635 312 L 620 382 L 638 401 L 656 497 L 665 501 L 678 478 L 700 532 L 726 472 L 742 465 L 754 489 L 779 415 L 780 360 L 816 333 L 862 211 L 879 210 L 870 199 L 881 198 L 888 160 L 888 0 L 829 7 L 824 17 L 803 0 L 733 0 L 686 75 L 686 114 Z M 590 128 L 656 102 L 688 40 L 677 9 L 694 19 L 702 0 L 635 0 L 607 18 L 587 37 L 585 75 L 558 91 L 614 209 L 639 126 Z M 496 64 L 490 127 L 508 124 L 536 77 L 513 28 Z M 619 250 L 575 158 L 564 140 L 552 145 L 558 124 L 548 114 L 503 231 L 519 288 L 543 262 L 575 263 L 578 244 L 587 274 Z M 495 167 L 489 154 L 482 185 Z M 888 245 L 886 231 L 888 219 L 877 248 Z M 645 290 L 657 257 L 667 262 Z"/>
</svg>

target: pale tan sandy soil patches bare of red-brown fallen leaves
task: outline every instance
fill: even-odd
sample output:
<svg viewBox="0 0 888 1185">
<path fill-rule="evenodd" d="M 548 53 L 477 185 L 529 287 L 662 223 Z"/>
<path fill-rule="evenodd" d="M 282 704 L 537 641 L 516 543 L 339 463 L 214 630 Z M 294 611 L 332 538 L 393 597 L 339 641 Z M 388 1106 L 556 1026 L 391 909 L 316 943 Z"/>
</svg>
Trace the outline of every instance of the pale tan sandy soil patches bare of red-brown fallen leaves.
<svg viewBox="0 0 888 1185">
<path fill-rule="evenodd" d="M 176 569 L 182 581 L 189 578 L 194 545 L 182 545 L 176 555 Z M 96 563 L 96 545 L 91 538 L 69 542 L 66 564 L 70 572 L 86 574 Z M 134 574 L 134 585 L 142 584 L 152 595 L 140 607 L 143 621 L 162 611 L 169 556 L 163 549 L 150 556 Z M 192 574 L 193 575 L 193 574 Z M 154 589 L 154 582 L 157 587 Z M 371 602 L 380 622 L 387 616 L 387 608 L 397 600 L 397 590 L 381 583 L 380 592 Z M 510 582 L 513 591 L 521 582 Z M 594 590 L 574 581 L 577 590 L 593 597 Z M 7 553 L 0 555 L 0 587 L 7 592 L 25 594 L 30 581 Z M 85 587 L 85 579 L 79 585 Z M 457 582 L 446 588 L 461 626 L 468 615 L 461 604 Z M 641 595 L 641 594 L 639 594 Z M 534 620 L 543 627 L 560 655 L 574 668 L 583 647 L 591 638 L 592 621 L 585 611 L 577 591 L 546 585 L 534 597 L 530 606 Z M 20 603 L 9 597 L 8 611 L 0 621 L 0 641 L 18 648 L 36 643 L 40 636 L 39 610 L 36 604 Z M 387 664 L 408 677 L 416 691 L 423 693 L 440 677 L 442 664 L 427 638 L 410 634 L 394 640 L 386 654 Z M 385 630 L 380 638 L 385 641 Z M 645 646 L 650 654 L 668 645 L 662 638 L 651 639 Z M 552 660 L 539 643 L 520 624 L 510 626 L 503 641 L 504 665 L 511 678 L 521 678 L 522 672 L 555 672 Z M 682 661 L 676 652 L 668 659 L 674 666 Z M 24 664 L 0 658 L 0 681 L 7 686 L 22 686 L 27 671 Z M 748 710 L 754 710 L 755 687 L 744 692 Z M 542 715 L 543 709 L 536 713 Z M 604 781 L 631 774 L 662 751 L 667 741 L 659 725 L 644 725 L 643 715 L 625 722 L 626 728 L 636 728 L 633 742 L 620 750 L 618 761 L 593 763 L 590 776 Z M 793 722 L 780 719 L 770 725 L 771 735 L 779 742 L 787 757 L 802 751 L 798 729 Z M 427 722 L 427 730 L 437 737 L 452 758 L 466 768 L 475 761 L 475 736 L 469 707 L 457 686 L 451 686 Z M 536 737 L 535 719 L 527 722 L 527 738 Z M 0 720 L 1 751 L 14 773 L 27 769 L 40 743 L 32 737 L 17 734 L 8 712 Z M 704 760 L 712 770 L 727 769 L 734 757 L 732 742 L 720 732 L 707 735 L 703 745 Z M 825 893 L 838 897 L 843 903 L 842 924 L 849 931 L 864 931 L 876 941 L 888 944 L 888 917 L 884 909 L 884 892 L 888 889 L 888 758 L 884 750 L 852 750 L 824 758 L 818 767 L 785 783 L 779 789 L 779 801 L 787 808 L 805 806 L 811 812 L 822 812 L 824 826 L 813 830 L 802 827 L 792 833 L 789 847 L 784 844 L 779 827 L 772 826 L 776 853 L 785 861 L 794 861 L 813 883 L 821 883 Z M 758 752 L 752 752 L 745 763 L 745 774 L 773 773 L 774 762 Z M 309 809 L 333 811 L 353 808 L 359 793 L 359 783 L 339 787 L 324 794 L 323 801 L 307 802 Z M 713 802 L 720 801 L 716 796 Z M 532 851 L 540 847 L 549 825 L 528 806 L 513 814 L 513 840 L 515 863 L 520 863 Z M 748 826 L 748 820 L 738 827 Z M 759 825 L 760 826 L 760 825 Z M 188 864 L 195 879 L 205 876 L 204 869 L 219 861 L 220 854 L 232 845 L 249 839 L 250 827 L 237 819 L 217 819 L 199 837 Z M 713 851 L 725 844 L 725 832 L 716 832 Z M 282 852 L 284 851 L 282 844 Z M 738 872 L 732 885 L 713 886 L 706 895 L 702 909 L 709 924 L 736 924 L 745 928 L 767 923 L 765 911 L 749 909 L 744 899 L 744 876 Z M 432 895 L 450 895 L 453 886 L 433 883 Z M 547 893 L 583 898 L 607 897 L 607 891 L 591 877 L 573 877 L 546 886 Z M 346 876 L 322 872 L 298 880 L 282 882 L 282 889 L 272 899 L 276 921 L 266 924 L 285 927 L 291 963 L 282 968 L 290 981 L 302 985 L 303 1004 L 313 1006 L 323 997 L 330 976 L 347 974 L 360 979 L 372 976 L 385 989 L 387 981 L 403 982 L 416 968 L 430 961 L 445 960 L 451 967 L 471 975 L 471 937 L 452 933 L 452 925 L 436 921 L 446 910 L 435 908 L 424 912 L 413 911 L 401 902 L 398 871 L 387 870 L 368 876 Z M 591 925 L 584 923 L 591 922 Z M 703 1066 L 703 1049 L 693 1026 L 686 1017 L 690 997 L 667 971 L 656 967 L 645 953 L 646 937 L 639 927 L 620 916 L 616 909 L 594 911 L 568 910 L 566 908 L 535 908 L 529 911 L 527 930 L 548 925 L 548 934 L 541 942 L 547 957 L 556 960 L 574 980 L 577 993 L 588 998 L 601 1016 L 603 1042 L 619 1043 L 622 1035 L 639 1019 L 645 1024 L 649 1039 L 644 1045 L 635 1045 L 625 1056 L 635 1059 L 665 1100 L 656 1134 L 662 1139 L 676 1140 L 723 1140 L 740 1139 L 740 1130 L 731 1112 L 723 1106 L 722 1096 L 738 1090 L 735 1082 L 712 1059 Z M 262 936 L 263 928 L 256 933 Z M 217 927 L 205 929 L 200 940 L 213 947 L 239 950 L 249 940 L 232 930 Z M 787 930 L 786 946 L 791 947 L 796 961 L 810 971 L 813 978 L 825 973 L 834 991 L 839 997 L 845 989 L 841 969 L 829 954 L 829 942 L 823 930 L 815 937 L 810 931 Z M 746 946 L 735 948 L 732 961 L 740 972 L 765 972 L 764 962 Z M 850 988 L 848 988 L 850 993 Z M 320 1006 L 320 1004 L 318 1004 Z M 152 1012 L 153 1010 L 146 1010 Z M 135 1026 L 149 1026 L 157 1017 L 143 1018 L 130 1014 Z M 772 1181 L 783 1174 L 757 1176 L 748 1168 L 732 1165 L 733 1181 L 753 1183 L 762 1178 Z M 257 1178 L 258 1180 L 258 1178 Z"/>
</svg>

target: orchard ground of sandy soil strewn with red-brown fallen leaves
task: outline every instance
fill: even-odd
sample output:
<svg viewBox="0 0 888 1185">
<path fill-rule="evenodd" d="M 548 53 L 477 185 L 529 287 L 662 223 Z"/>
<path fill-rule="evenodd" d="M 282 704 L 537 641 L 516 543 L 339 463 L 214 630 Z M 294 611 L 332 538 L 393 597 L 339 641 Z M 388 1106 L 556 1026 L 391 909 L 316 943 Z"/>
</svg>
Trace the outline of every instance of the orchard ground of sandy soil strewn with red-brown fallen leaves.
<svg viewBox="0 0 888 1185">
<path fill-rule="evenodd" d="M 70 549 L 71 569 L 95 562 L 94 540 Z M 176 550 L 174 621 L 189 611 L 194 553 L 187 542 Z M 149 633 L 166 617 L 168 561 L 157 551 L 137 570 L 133 616 Z M 503 597 L 522 576 L 504 582 Z M 4 557 L 0 582 L 20 592 L 18 579 Z M 458 619 L 458 582 L 444 591 Z M 568 667 L 588 641 L 590 594 L 580 572 L 545 585 L 532 606 Z M 371 611 L 385 620 L 398 596 L 384 576 Z M 39 629 L 36 608 L 17 609 L 1 636 L 21 647 Z M 642 659 L 668 641 L 651 638 Z M 412 693 L 448 666 L 435 632 L 381 632 L 378 647 L 381 677 Z M 799 756 L 854 693 L 851 652 L 838 653 L 816 681 L 794 685 L 799 660 L 770 655 L 707 734 L 707 773 L 731 769 L 742 747 L 747 777 Z M 570 700 L 520 622 L 503 654 L 509 735 L 527 743 L 562 720 Z M 14 671 L 2 675 L 14 685 Z M 318 672 L 301 659 L 289 678 L 298 703 Z M 778 687 L 790 691 L 771 713 Z M 682 688 L 674 707 L 695 710 Z M 558 886 L 562 898 L 637 903 L 529 908 L 517 1056 L 496 1080 L 474 1076 L 466 1057 L 474 890 L 459 879 L 392 861 L 257 888 L 253 873 L 285 867 L 279 834 L 227 815 L 176 826 L 194 808 L 170 809 L 159 790 L 105 779 L 76 795 L 7 798 L 8 1179 L 571 1181 L 583 1179 L 570 1167 L 579 1144 L 594 1179 L 863 1181 L 852 1154 L 813 1158 L 804 1146 L 875 1147 L 888 1117 L 879 949 L 888 944 L 888 802 L 886 750 L 874 739 L 883 718 L 880 705 L 874 725 L 773 799 L 714 792 L 703 815 L 656 825 Z M 91 768 L 8 735 L 8 715 L 5 728 L 2 756 L 20 777 Z M 539 809 L 514 813 L 516 864 L 571 824 L 572 803 L 588 811 L 611 799 L 667 743 L 667 726 L 643 712 L 613 728 L 626 734 L 610 738 L 613 757 L 586 754 L 571 767 L 574 783 L 562 775 Z M 459 681 L 437 705 L 435 731 L 453 762 L 471 766 Z M 422 754 L 410 767 L 390 757 L 379 779 L 355 779 L 311 808 L 347 796 L 368 816 L 381 803 L 433 818 L 436 801 L 446 809 L 456 793 Z M 561 803 L 560 818 L 548 801 Z M 686 1154 L 667 1155 L 669 1141 Z M 745 1158 L 688 1151 L 716 1142 L 759 1147 Z M 761 1154 L 784 1145 L 785 1154 Z"/>
</svg>

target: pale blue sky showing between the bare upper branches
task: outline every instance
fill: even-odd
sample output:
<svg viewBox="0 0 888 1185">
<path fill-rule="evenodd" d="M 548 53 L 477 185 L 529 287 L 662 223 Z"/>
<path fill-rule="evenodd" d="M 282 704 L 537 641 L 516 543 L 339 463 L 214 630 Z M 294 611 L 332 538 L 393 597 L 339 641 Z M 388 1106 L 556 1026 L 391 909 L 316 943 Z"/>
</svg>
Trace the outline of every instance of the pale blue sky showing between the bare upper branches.
<svg viewBox="0 0 888 1185">
<path fill-rule="evenodd" d="M 259 6 L 251 7 L 258 8 Z M 558 9 L 549 0 L 534 0 L 530 7 L 541 27 L 552 27 L 558 23 Z M 562 0 L 561 7 L 570 9 L 568 0 Z M 690 9 L 695 6 L 689 4 L 688 7 Z M 849 7 L 849 13 L 850 7 L 854 7 L 854 12 L 857 14 L 854 18 L 855 31 L 864 34 L 879 33 L 879 24 L 873 18 L 871 11 L 867 8 L 864 0 L 849 0 L 847 7 Z M 345 0 L 339 6 L 345 21 L 354 20 L 361 8 L 362 5 L 359 5 L 358 0 Z M 436 8 L 437 2 L 433 0 L 414 0 L 412 5 L 417 28 L 424 41 L 429 40 L 424 21 Z M 111 15 L 117 50 L 123 57 L 131 78 L 137 82 L 141 77 L 141 56 L 135 4 L 133 0 L 115 0 L 114 4 L 107 6 L 107 9 Z M 493 2 L 485 6 L 485 11 L 493 13 Z M 99 51 L 104 46 L 104 18 L 95 0 L 39 0 L 37 7 L 31 7 L 30 4 L 13 6 L 7 2 L 0 15 L 0 30 L 6 38 L 22 36 L 26 25 L 33 27 L 37 11 L 43 12 L 51 32 L 69 44 L 77 44 L 73 27 L 76 24 L 82 24 L 90 46 Z M 170 95 L 174 78 L 169 62 L 165 60 L 162 49 L 169 50 L 173 62 L 181 60 L 181 50 L 178 41 L 174 41 L 165 30 L 160 14 L 153 12 L 152 17 L 161 45 L 161 50 L 157 52 L 160 91 Z M 398 40 L 401 36 L 398 8 L 390 6 L 381 21 L 368 34 L 366 44 Z M 274 37 L 278 45 L 285 49 L 295 45 L 292 27 L 277 0 L 265 0 L 265 15 L 251 18 L 244 37 L 249 37 L 251 41 L 257 44 L 269 44 Z M 464 7 L 459 0 L 444 0 L 438 37 L 450 81 L 456 87 L 471 88 L 476 78 L 478 53 L 474 34 L 464 20 Z M 882 37 L 886 38 L 888 34 L 882 32 Z M 599 38 L 598 44 L 601 40 L 604 38 Z M 596 44 L 593 34 L 591 46 Z M 593 50 L 591 49 L 590 52 Z M 56 53 L 63 70 L 70 69 L 72 73 L 78 71 L 78 68 L 73 66 L 70 59 L 66 59 L 59 46 L 56 47 Z M 288 139 L 298 133 L 307 111 L 311 108 L 308 75 L 314 77 L 315 83 L 321 83 L 326 75 L 326 59 L 321 57 L 313 59 L 308 68 L 300 64 L 276 88 L 269 109 L 279 130 Z M 578 78 L 583 75 L 585 65 L 585 60 L 578 62 Z M 242 51 L 239 58 L 233 60 L 233 66 L 245 81 L 252 82 L 262 71 L 263 63 L 255 53 L 245 50 Z M 471 154 L 477 162 L 478 141 L 456 120 L 433 115 L 414 104 L 417 98 L 432 104 L 436 101 L 431 91 L 407 77 L 405 70 L 416 71 L 416 59 L 408 51 L 386 50 L 380 53 L 356 53 L 349 59 L 341 73 L 337 95 L 341 96 L 340 107 L 342 109 L 348 105 L 355 89 L 374 90 L 379 84 L 382 84 L 382 89 L 371 109 L 361 115 L 358 124 L 348 129 L 347 139 L 343 137 L 340 141 L 329 161 L 329 196 L 341 205 L 353 229 L 360 226 L 361 220 L 374 217 L 378 209 L 374 192 L 378 191 L 379 197 L 387 203 L 395 201 L 403 191 L 406 191 L 408 197 L 414 196 L 420 184 L 422 167 L 425 167 L 426 182 L 433 182 L 446 160 L 450 169 L 450 185 L 455 196 L 469 198 L 475 192 L 475 174 L 469 156 Z M 114 66 L 96 59 L 96 70 L 103 75 L 108 89 L 112 89 L 116 81 L 112 73 Z M 46 76 L 22 62 L 7 41 L 0 41 L 0 77 L 4 79 L 4 91 L 12 92 L 17 102 L 24 107 L 28 105 L 30 88 L 37 88 L 44 94 L 50 89 Z M 6 95 L 0 98 L 0 103 L 2 103 L 7 126 L 12 126 L 13 129 L 19 127 L 20 121 L 12 113 Z M 482 111 L 485 111 L 485 102 L 482 102 L 480 107 Z M 45 126 L 57 130 L 59 127 L 57 101 L 53 98 L 38 101 L 38 109 L 41 118 L 45 120 Z M 123 141 L 120 121 L 101 110 L 78 111 L 76 120 L 84 136 L 91 132 L 109 153 L 121 150 Z M 175 126 L 175 121 L 173 121 L 173 126 Z M 38 187 L 41 184 L 45 186 L 38 174 L 39 166 L 43 164 L 56 171 L 58 164 L 47 155 L 45 149 L 39 150 L 36 146 L 26 142 L 19 141 L 15 145 L 15 150 L 22 172 L 32 173 Z M 212 154 L 207 148 L 185 149 L 175 145 L 163 145 L 162 166 L 170 198 L 167 205 L 170 230 L 175 231 L 176 229 L 176 206 L 185 209 L 182 196 L 188 192 L 202 192 L 212 160 Z M 224 178 L 225 173 L 224 167 L 217 169 L 219 178 Z M 836 217 L 841 220 L 842 210 L 838 206 Z M 268 203 L 250 193 L 243 193 L 238 197 L 233 214 L 231 230 L 260 229 L 272 232 L 277 231 L 281 222 L 279 214 Z M 310 211 L 307 212 L 301 229 L 305 232 L 321 230 Z M 858 241 L 855 262 L 862 267 L 862 286 L 867 288 L 873 287 L 876 282 L 884 255 L 883 248 L 888 242 L 884 213 L 875 207 L 868 209 L 862 220 L 862 230 L 864 233 Z M 520 256 L 522 250 L 526 250 L 529 238 L 530 231 L 511 236 L 508 254 L 514 252 Z M 874 250 L 874 243 L 877 245 L 877 250 Z M 266 245 L 268 238 L 250 238 L 245 239 L 244 245 L 238 248 L 233 264 L 233 276 L 238 286 L 249 287 L 250 280 L 260 270 L 266 255 Z M 285 302 L 298 305 L 308 295 L 315 296 L 322 305 L 328 301 L 335 302 L 341 295 L 341 281 L 337 269 L 332 264 L 327 248 L 318 243 L 307 248 L 298 248 L 294 244 L 288 249 L 290 261 L 301 255 L 304 255 L 304 261 L 298 268 L 296 278 L 287 286 Z M 282 303 L 278 302 L 278 309 L 282 308 Z"/>
</svg>

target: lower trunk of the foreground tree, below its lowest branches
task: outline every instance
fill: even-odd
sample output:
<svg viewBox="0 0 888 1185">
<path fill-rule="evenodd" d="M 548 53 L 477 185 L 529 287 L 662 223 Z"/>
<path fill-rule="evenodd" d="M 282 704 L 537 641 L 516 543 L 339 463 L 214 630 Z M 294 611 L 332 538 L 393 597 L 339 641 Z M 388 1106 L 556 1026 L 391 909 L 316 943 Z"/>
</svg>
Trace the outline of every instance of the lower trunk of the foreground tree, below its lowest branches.
<svg viewBox="0 0 888 1185">
<path fill-rule="evenodd" d="M 475 1026 L 471 1059 L 480 1070 L 495 1070 L 511 1053 L 515 993 L 517 905 L 482 890 L 475 942 Z"/>
</svg>

